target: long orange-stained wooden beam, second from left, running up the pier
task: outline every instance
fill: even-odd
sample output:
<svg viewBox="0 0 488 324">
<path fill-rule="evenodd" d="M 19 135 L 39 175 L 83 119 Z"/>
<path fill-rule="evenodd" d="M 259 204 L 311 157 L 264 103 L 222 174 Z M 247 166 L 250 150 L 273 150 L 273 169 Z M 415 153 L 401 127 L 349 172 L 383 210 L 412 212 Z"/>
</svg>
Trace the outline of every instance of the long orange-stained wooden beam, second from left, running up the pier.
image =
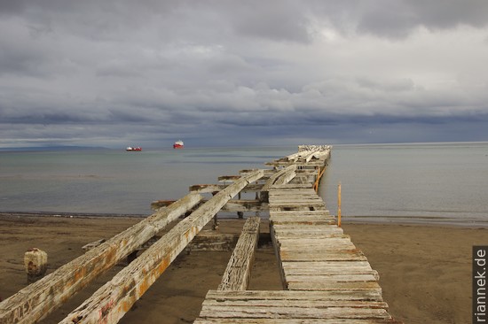
<svg viewBox="0 0 488 324">
<path fill-rule="evenodd" d="M 226 202 L 236 196 L 248 183 L 263 176 L 262 170 L 233 181 L 212 199 L 202 204 L 190 216 L 181 220 L 136 260 L 98 289 L 82 305 L 70 312 L 60 323 L 116 323 L 166 270 L 179 252 L 193 240 Z"/>
</svg>

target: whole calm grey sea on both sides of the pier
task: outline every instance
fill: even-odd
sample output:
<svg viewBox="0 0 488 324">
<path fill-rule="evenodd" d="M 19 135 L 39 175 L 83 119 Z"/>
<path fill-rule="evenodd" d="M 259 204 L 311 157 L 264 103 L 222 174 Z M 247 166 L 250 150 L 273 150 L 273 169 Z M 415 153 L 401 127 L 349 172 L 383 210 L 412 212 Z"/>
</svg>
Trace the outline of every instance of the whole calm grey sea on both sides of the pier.
<svg viewBox="0 0 488 324">
<path fill-rule="evenodd" d="M 264 168 L 295 146 L 0 152 L 0 212 L 151 214 L 193 184 Z M 343 221 L 488 226 L 488 143 L 335 145 L 319 194 Z"/>
</svg>

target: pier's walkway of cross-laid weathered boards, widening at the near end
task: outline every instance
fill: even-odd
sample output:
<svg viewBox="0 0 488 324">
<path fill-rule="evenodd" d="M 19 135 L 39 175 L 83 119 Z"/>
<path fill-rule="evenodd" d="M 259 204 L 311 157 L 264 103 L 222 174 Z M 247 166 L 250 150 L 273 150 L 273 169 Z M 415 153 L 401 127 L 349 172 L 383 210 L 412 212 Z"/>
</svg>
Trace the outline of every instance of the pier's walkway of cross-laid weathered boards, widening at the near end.
<svg viewBox="0 0 488 324">
<path fill-rule="evenodd" d="M 209 291 L 194 323 L 396 323 L 378 273 L 335 225 L 315 191 L 269 189 L 282 291 Z"/>
</svg>

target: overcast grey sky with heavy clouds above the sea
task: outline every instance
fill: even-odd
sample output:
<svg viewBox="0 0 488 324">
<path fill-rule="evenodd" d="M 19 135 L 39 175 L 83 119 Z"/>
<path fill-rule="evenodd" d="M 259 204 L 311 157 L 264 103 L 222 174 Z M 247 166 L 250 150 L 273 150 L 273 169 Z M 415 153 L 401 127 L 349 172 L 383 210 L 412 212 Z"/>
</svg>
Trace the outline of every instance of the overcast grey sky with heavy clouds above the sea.
<svg viewBox="0 0 488 324">
<path fill-rule="evenodd" d="M 488 141 L 486 0 L 0 0 L 0 148 Z"/>
</svg>

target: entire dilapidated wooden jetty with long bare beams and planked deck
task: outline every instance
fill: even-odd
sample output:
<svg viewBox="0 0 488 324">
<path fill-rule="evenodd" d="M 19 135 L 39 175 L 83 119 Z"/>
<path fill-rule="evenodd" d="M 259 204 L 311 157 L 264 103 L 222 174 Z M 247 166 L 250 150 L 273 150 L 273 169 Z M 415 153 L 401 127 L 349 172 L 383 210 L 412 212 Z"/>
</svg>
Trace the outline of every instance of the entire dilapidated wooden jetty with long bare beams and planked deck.
<svg viewBox="0 0 488 324">
<path fill-rule="evenodd" d="M 240 176 L 220 179 L 228 185 L 194 185 L 176 202 L 153 203 L 159 209 L 150 217 L 109 240 L 87 244 L 82 257 L 1 302 L 0 323 L 42 320 L 129 257 L 128 266 L 60 321 L 116 323 L 202 228 L 212 220 L 217 226 L 219 211 L 256 216 L 247 218 L 222 282 L 209 291 L 195 323 L 397 323 L 382 300 L 378 274 L 316 193 L 330 154 L 330 146 L 302 145 L 295 154 L 268 163 L 271 169 L 242 170 Z M 256 193 L 256 199 L 240 199 L 244 192 Z M 281 291 L 247 290 L 264 211 L 269 212 Z M 144 244 L 150 246 L 137 256 Z"/>
</svg>

